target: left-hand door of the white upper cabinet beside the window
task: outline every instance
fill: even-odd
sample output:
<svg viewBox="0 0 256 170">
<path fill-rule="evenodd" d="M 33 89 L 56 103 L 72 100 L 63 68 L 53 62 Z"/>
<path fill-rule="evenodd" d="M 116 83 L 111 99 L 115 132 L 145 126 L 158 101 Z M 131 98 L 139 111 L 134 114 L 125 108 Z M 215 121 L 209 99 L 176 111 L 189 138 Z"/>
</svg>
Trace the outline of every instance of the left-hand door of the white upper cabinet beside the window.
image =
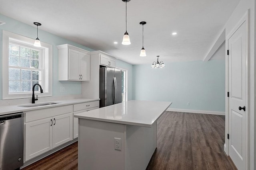
<svg viewBox="0 0 256 170">
<path fill-rule="evenodd" d="M 79 51 L 68 49 L 68 79 L 80 80 Z"/>
</svg>

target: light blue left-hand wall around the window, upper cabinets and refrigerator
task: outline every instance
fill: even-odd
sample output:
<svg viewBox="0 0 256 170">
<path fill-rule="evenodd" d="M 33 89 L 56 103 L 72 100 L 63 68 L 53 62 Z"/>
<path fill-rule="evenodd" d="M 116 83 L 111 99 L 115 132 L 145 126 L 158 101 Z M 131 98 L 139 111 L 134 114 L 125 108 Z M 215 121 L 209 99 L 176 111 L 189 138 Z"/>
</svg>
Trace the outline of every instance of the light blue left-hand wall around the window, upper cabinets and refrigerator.
<svg viewBox="0 0 256 170">
<path fill-rule="evenodd" d="M 32 39 L 36 38 L 36 26 L 30 26 L 20 21 L 14 20 L 7 16 L 0 14 L 0 21 L 6 22 L 4 25 L 0 25 L 0 51 L 2 51 L 2 30 L 6 30 L 12 33 L 23 35 L 25 37 L 30 37 Z M 31 21 L 31 23 L 34 21 Z M 76 47 L 94 51 L 93 49 L 84 47 L 80 44 L 74 43 L 68 39 L 58 37 L 46 31 L 40 30 L 38 27 L 38 37 L 40 41 L 51 44 L 53 49 L 53 96 L 63 96 L 63 95 L 76 95 L 81 94 L 81 82 L 72 82 L 72 81 L 58 81 L 58 49 L 56 45 L 60 44 L 70 44 Z M 0 53 L 0 65 L 2 66 L 2 52 Z M 128 70 L 128 100 L 132 100 L 132 65 L 125 63 L 123 61 L 117 60 L 117 67 L 124 68 Z M 2 67 L 1 67 L 2 68 Z M 2 100 L 2 69 L 0 69 L 0 100 Z M 65 88 L 65 92 L 60 92 L 60 87 Z"/>
</svg>

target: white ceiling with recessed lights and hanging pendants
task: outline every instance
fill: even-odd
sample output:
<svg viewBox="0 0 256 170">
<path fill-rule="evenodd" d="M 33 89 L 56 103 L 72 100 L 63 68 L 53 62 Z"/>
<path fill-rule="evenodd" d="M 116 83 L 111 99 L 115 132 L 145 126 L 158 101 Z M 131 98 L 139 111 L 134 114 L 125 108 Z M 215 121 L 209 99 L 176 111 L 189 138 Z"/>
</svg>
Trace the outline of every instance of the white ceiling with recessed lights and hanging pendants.
<svg viewBox="0 0 256 170">
<path fill-rule="evenodd" d="M 131 64 L 203 60 L 239 0 L 0 0 L 0 13 Z M 139 57 L 142 48 L 147 57 Z M 36 27 L 36 26 L 35 26 Z M 173 36 L 172 32 L 177 32 Z M 39 30 L 39 38 L 40 30 Z M 117 41 L 118 44 L 114 44 Z"/>
</svg>

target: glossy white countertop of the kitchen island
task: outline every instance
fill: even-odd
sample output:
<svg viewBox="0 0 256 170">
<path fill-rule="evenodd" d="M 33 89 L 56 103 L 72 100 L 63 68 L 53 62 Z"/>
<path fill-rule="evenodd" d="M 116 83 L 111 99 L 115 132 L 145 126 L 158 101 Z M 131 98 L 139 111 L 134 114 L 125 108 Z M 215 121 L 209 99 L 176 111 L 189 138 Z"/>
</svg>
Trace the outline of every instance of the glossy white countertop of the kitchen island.
<svg viewBox="0 0 256 170">
<path fill-rule="evenodd" d="M 152 127 L 172 102 L 130 100 L 111 106 L 75 114 L 80 119 L 90 119 L 126 125 Z"/>
</svg>

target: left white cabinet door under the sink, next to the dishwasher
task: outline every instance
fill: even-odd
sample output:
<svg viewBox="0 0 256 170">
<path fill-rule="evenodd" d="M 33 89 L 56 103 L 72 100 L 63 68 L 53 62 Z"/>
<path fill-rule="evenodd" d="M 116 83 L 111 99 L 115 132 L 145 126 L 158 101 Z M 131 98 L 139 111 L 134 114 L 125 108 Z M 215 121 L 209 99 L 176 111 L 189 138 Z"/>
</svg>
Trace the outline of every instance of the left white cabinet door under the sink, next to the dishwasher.
<svg viewBox="0 0 256 170">
<path fill-rule="evenodd" d="M 25 124 L 25 161 L 52 149 L 52 118 Z"/>
</svg>

